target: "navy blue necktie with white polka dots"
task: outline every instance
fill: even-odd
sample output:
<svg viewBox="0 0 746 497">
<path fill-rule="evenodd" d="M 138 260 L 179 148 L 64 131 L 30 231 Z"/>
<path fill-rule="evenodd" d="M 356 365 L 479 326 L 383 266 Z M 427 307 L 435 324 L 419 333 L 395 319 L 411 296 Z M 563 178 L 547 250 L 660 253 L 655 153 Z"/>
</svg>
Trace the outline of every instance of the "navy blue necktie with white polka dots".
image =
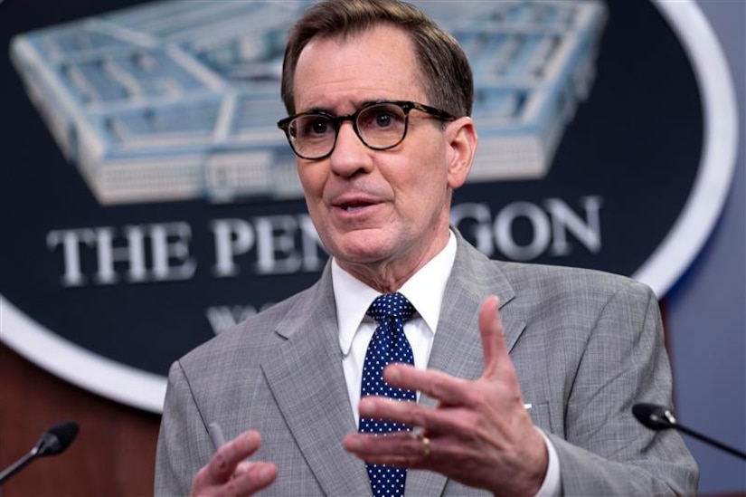
<svg viewBox="0 0 746 497">
<path fill-rule="evenodd" d="M 367 312 L 378 323 L 368 344 L 363 365 L 361 397 L 382 396 L 397 400 L 416 400 L 413 390 L 392 387 L 383 381 L 383 368 L 392 362 L 414 364 L 410 342 L 404 336 L 404 321 L 410 320 L 414 307 L 401 293 L 388 293 L 376 298 Z M 386 435 L 409 431 L 410 426 L 391 423 L 380 418 L 361 417 L 360 433 Z M 367 464 L 374 496 L 403 495 L 407 470 L 382 464 Z"/>
</svg>

